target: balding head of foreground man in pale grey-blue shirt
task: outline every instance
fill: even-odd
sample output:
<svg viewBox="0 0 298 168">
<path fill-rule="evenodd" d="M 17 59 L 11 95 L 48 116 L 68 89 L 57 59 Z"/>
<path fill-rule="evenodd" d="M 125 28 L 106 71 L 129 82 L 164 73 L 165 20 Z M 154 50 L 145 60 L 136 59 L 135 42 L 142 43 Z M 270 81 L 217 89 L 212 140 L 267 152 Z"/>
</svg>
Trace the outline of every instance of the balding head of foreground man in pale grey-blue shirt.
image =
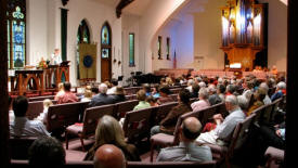
<svg viewBox="0 0 298 168">
<path fill-rule="evenodd" d="M 199 134 L 202 130 L 200 121 L 195 117 L 189 117 L 183 120 L 182 124 L 182 141 L 193 141 Z"/>
</svg>

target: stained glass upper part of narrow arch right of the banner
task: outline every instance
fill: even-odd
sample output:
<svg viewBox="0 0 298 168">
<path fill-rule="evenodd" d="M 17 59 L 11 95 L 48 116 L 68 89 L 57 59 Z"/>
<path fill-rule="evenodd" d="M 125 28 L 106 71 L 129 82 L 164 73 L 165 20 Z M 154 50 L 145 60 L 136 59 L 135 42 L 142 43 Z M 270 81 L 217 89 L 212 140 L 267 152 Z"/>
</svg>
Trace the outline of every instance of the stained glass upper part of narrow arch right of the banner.
<svg viewBox="0 0 298 168">
<path fill-rule="evenodd" d="M 102 39 L 101 39 L 101 51 L 102 51 L 102 59 L 111 59 L 112 55 L 112 42 L 111 42 L 111 27 L 106 22 L 102 27 Z"/>
</svg>

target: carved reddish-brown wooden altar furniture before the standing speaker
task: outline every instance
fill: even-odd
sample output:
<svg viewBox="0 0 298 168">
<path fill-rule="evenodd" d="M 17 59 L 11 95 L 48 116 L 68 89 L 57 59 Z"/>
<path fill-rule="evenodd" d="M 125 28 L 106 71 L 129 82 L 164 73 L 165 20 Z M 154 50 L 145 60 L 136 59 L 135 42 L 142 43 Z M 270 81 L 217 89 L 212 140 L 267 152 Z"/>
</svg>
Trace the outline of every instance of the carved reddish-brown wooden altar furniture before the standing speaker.
<svg viewBox="0 0 298 168">
<path fill-rule="evenodd" d="M 60 82 L 69 81 L 69 66 L 49 65 L 47 68 L 24 68 L 9 70 L 12 94 L 43 95 L 47 91 L 57 91 Z"/>
</svg>

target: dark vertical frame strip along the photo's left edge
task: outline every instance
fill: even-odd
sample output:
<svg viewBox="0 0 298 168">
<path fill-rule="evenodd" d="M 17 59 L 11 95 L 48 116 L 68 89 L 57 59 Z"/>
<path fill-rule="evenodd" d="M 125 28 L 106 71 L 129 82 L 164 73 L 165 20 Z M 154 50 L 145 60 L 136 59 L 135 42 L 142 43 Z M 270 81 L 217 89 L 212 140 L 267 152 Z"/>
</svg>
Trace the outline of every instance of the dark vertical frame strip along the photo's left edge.
<svg viewBox="0 0 298 168">
<path fill-rule="evenodd" d="M 8 0 L 0 1 L 0 165 L 9 167 L 9 94 L 8 94 Z"/>
</svg>

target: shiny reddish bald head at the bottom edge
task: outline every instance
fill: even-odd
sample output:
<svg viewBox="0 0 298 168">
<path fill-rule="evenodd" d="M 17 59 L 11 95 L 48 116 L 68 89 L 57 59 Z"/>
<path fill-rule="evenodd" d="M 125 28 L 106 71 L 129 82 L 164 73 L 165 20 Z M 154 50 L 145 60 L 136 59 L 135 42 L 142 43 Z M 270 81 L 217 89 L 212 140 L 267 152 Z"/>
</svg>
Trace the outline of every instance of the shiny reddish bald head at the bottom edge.
<svg viewBox="0 0 298 168">
<path fill-rule="evenodd" d="M 112 144 L 99 147 L 94 155 L 94 168 L 125 168 L 126 159 L 120 148 Z"/>
</svg>

